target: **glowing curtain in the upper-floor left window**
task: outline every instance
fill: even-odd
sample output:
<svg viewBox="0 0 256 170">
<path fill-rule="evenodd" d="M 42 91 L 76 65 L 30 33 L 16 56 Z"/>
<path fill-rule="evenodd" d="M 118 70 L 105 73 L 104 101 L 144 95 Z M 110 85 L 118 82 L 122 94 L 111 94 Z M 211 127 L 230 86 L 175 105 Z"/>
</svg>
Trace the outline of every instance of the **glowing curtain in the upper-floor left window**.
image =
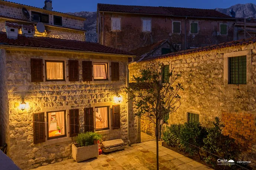
<svg viewBox="0 0 256 170">
<path fill-rule="evenodd" d="M 59 80 L 63 79 L 63 63 L 62 62 L 47 62 L 47 79 Z"/>
</svg>

